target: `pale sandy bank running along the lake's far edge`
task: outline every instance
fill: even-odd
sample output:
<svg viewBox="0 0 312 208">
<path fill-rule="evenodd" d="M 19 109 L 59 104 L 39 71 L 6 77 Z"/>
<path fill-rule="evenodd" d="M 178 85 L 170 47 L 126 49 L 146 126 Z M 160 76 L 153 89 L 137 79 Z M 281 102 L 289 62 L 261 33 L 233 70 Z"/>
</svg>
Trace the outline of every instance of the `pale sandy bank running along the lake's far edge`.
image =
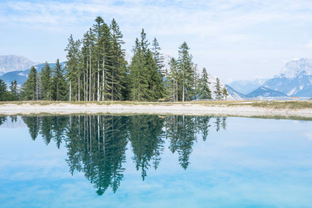
<svg viewBox="0 0 312 208">
<path fill-rule="evenodd" d="M 114 114 L 186 114 L 186 115 L 231 115 L 231 116 L 298 116 L 312 118 L 312 109 L 272 109 L 252 106 L 226 106 L 226 105 L 200 105 L 200 104 L 176 104 L 176 105 L 96 105 L 87 103 L 77 105 L 71 103 L 53 103 L 50 105 L 38 105 L 23 103 L 17 105 L 7 103 L 0 106 L 0 114 L 74 114 L 74 113 L 114 113 Z"/>
</svg>

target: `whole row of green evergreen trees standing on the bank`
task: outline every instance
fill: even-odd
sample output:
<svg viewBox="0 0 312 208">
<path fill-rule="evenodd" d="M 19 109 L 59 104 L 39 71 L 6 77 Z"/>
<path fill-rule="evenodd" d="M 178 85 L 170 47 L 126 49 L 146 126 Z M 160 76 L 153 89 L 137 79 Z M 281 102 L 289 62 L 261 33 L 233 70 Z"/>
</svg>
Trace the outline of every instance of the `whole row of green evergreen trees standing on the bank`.
<svg viewBox="0 0 312 208">
<path fill-rule="evenodd" d="M 68 38 L 64 69 L 59 60 L 53 69 L 45 63 L 40 73 L 32 67 L 16 99 L 185 101 L 212 98 L 207 71 L 203 68 L 199 75 L 186 42 L 179 46 L 178 58 L 171 59 L 170 68 L 164 69 L 161 47 L 156 38 L 150 46 L 144 29 L 135 40 L 131 64 L 125 60 L 122 38 L 115 19 L 108 25 L 97 17 L 82 40 L 75 41 L 72 35 Z M 228 95 L 225 88 L 221 89 L 219 79 L 215 87 L 216 98 Z"/>
</svg>

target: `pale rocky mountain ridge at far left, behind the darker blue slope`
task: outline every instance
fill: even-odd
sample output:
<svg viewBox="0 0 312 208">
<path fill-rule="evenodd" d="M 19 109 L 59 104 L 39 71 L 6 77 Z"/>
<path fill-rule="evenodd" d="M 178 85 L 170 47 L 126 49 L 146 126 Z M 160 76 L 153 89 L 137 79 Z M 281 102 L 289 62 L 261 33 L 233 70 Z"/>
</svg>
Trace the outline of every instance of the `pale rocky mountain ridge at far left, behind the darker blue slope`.
<svg viewBox="0 0 312 208">
<path fill-rule="evenodd" d="M 39 63 L 35 63 L 23 56 L 0 56 L 0 75 L 11 71 L 22 71 L 37 64 Z"/>
</svg>

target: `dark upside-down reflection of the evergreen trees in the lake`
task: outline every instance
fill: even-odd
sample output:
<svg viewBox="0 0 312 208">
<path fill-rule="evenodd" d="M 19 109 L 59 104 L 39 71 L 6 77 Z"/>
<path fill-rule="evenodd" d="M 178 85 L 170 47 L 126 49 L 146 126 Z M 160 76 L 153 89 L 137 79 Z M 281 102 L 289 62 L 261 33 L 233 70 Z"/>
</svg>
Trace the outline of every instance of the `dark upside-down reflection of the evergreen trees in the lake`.
<svg viewBox="0 0 312 208">
<path fill-rule="evenodd" d="M 16 116 L 10 118 L 12 123 L 17 121 Z M 0 117 L 0 125 L 6 119 Z M 132 160 L 144 180 L 149 168 L 158 168 L 166 140 L 186 170 L 197 136 L 205 141 L 210 128 L 215 127 L 217 132 L 226 129 L 226 117 L 212 116 L 66 115 L 22 116 L 21 119 L 33 140 L 40 135 L 46 145 L 53 140 L 60 148 L 63 143 L 70 173 L 82 171 L 98 195 L 109 187 L 115 193 L 120 186 L 128 142 L 134 154 Z"/>
</svg>

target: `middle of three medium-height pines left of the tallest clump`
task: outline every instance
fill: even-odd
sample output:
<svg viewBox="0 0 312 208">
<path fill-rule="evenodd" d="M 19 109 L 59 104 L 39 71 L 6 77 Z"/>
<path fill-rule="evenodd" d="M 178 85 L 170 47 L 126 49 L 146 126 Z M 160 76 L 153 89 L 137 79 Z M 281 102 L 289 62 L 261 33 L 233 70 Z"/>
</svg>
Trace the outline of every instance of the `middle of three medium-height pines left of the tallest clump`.
<svg viewBox="0 0 312 208">
<path fill-rule="evenodd" d="M 42 95 L 44 100 L 51 100 L 52 71 L 47 62 L 40 72 Z"/>
</svg>

